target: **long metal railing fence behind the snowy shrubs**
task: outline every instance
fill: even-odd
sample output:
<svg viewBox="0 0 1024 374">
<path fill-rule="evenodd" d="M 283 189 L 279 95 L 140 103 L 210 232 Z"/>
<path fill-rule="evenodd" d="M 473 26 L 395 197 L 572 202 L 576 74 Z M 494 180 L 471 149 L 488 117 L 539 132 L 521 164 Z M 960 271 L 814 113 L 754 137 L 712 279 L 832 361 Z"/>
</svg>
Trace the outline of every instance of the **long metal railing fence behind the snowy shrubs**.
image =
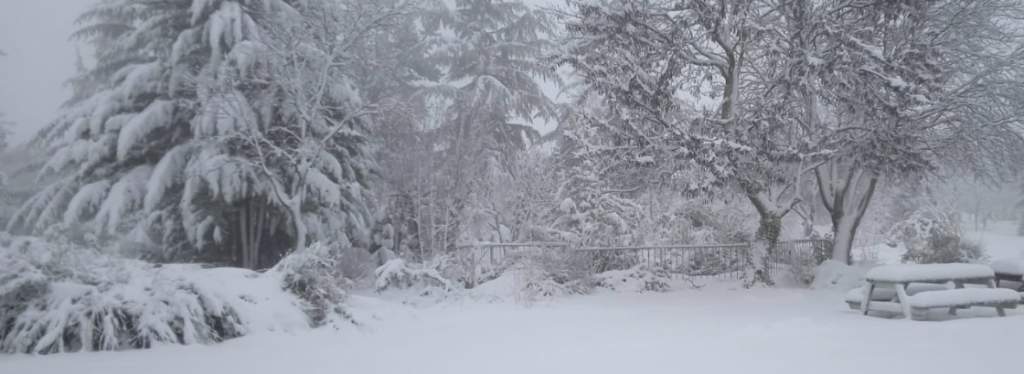
<svg viewBox="0 0 1024 374">
<path fill-rule="evenodd" d="M 777 276 L 796 266 L 816 265 L 823 258 L 827 245 L 822 240 L 779 242 L 769 252 L 769 272 Z M 595 272 L 644 265 L 674 278 L 739 279 L 750 248 L 750 244 L 574 247 L 566 243 L 539 242 L 477 244 L 463 250 L 478 258 L 478 263 L 497 267 L 516 256 L 554 254 L 587 261 Z"/>
</svg>

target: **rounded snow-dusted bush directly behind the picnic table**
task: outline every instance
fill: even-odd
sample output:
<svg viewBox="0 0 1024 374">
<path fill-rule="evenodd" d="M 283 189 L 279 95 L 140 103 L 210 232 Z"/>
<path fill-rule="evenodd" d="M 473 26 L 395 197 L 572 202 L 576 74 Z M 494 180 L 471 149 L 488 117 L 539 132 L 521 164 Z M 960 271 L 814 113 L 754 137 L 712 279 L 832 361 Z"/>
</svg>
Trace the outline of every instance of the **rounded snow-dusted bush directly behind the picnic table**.
<svg viewBox="0 0 1024 374">
<path fill-rule="evenodd" d="M 889 245 L 906 248 L 906 263 L 971 262 L 985 257 L 980 243 L 966 243 L 952 212 L 921 209 L 896 223 L 890 232 Z"/>
</svg>

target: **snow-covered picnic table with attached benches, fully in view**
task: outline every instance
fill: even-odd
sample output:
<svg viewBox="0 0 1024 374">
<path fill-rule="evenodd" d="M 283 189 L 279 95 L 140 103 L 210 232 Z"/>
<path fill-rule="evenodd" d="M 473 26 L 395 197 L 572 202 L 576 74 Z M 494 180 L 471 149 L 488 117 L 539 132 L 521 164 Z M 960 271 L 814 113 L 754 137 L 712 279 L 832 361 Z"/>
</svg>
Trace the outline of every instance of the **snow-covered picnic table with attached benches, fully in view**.
<svg viewBox="0 0 1024 374">
<path fill-rule="evenodd" d="M 950 315 L 957 308 L 971 306 L 994 307 L 999 317 L 1006 316 L 1006 308 L 1014 308 L 1021 300 L 1017 291 L 996 288 L 995 273 L 992 267 L 970 263 L 903 264 L 879 266 L 867 272 L 864 280 L 860 311 L 901 313 L 911 320 L 928 316 L 928 309 L 948 307 Z M 911 283 L 948 284 L 954 288 L 931 289 L 908 294 Z M 980 284 L 987 288 L 965 288 L 966 284 Z M 895 297 L 887 289 L 895 289 Z M 847 302 L 851 302 L 848 295 Z M 882 298 L 880 300 L 880 298 Z M 851 303 L 851 305 L 853 305 Z"/>
</svg>

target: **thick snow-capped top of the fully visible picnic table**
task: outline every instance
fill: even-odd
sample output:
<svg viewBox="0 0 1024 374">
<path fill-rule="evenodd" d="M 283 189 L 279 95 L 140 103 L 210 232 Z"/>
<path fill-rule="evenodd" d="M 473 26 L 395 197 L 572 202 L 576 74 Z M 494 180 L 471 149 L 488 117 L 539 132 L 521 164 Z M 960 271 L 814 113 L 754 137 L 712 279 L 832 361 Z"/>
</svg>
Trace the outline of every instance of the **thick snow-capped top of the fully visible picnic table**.
<svg viewBox="0 0 1024 374">
<path fill-rule="evenodd" d="M 929 263 L 887 265 L 871 268 L 864 277 L 868 282 L 910 283 L 991 279 L 991 267 L 974 263 Z"/>
</svg>

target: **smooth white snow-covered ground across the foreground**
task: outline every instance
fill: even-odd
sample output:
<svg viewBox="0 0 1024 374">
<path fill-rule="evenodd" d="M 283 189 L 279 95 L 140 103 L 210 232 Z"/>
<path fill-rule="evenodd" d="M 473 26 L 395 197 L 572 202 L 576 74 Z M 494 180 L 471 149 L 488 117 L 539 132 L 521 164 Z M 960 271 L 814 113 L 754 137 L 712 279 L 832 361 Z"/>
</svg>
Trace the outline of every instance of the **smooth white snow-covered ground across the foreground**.
<svg viewBox="0 0 1024 374">
<path fill-rule="evenodd" d="M 1007 227 L 1004 227 L 1007 226 Z M 981 236 L 1018 256 L 1009 223 Z M 898 255 L 897 255 L 898 258 Z M 463 299 L 408 306 L 353 296 L 361 328 L 262 333 L 214 346 L 0 356 L 3 374 L 90 373 L 968 373 L 1019 367 L 1024 311 L 863 317 L 841 290 L 608 291 L 524 307 Z M 942 321 L 942 322 L 935 322 Z"/>
</svg>

